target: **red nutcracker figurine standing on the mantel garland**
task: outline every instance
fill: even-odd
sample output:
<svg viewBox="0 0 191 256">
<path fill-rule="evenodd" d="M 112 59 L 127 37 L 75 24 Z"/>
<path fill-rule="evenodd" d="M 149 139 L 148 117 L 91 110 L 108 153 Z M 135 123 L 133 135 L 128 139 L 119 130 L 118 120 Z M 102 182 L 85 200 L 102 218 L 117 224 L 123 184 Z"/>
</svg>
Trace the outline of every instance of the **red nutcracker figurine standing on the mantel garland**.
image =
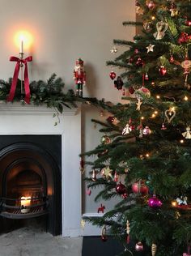
<svg viewBox="0 0 191 256">
<path fill-rule="evenodd" d="M 79 58 L 74 66 L 74 81 L 76 85 L 76 96 L 83 97 L 83 85 L 86 85 L 86 72 L 83 66 L 83 60 Z"/>
</svg>

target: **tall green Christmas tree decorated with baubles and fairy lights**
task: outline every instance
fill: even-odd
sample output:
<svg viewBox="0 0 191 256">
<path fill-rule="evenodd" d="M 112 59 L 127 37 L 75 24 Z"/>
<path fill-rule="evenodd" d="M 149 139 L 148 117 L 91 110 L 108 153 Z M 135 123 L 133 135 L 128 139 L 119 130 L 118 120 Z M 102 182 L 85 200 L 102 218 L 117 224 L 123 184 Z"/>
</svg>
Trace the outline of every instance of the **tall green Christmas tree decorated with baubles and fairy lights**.
<svg viewBox="0 0 191 256">
<path fill-rule="evenodd" d="M 120 202 L 85 219 L 102 228 L 103 241 L 117 237 L 121 255 L 190 255 L 191 2 L 138 0 L 135 8 L 142 21 L 123 24 L 142 32 L 114 40 L 112 52 L 125 51 L 107 63 L 120 69 L 110 77 L 124 104 L 105 104 L 105 122 L 92 120 L 101 143 L 84 154 L 88 187 L 101 187 L 96 201 Z"/>
</svg>

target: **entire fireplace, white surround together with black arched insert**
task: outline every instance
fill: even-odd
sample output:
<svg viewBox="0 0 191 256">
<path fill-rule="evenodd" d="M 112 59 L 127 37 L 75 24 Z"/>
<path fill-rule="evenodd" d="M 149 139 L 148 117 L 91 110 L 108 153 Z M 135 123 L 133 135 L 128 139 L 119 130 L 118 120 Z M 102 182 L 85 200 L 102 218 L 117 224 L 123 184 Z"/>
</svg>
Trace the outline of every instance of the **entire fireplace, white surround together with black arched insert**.
<svg viewBox="0 0 191 256">
<path fill-rule="evenodd" d="M 0 106 L 0 233 L 33 223 L 54 236 L 81 235 L 81 116 L 66 109 Z"/>
</svg>

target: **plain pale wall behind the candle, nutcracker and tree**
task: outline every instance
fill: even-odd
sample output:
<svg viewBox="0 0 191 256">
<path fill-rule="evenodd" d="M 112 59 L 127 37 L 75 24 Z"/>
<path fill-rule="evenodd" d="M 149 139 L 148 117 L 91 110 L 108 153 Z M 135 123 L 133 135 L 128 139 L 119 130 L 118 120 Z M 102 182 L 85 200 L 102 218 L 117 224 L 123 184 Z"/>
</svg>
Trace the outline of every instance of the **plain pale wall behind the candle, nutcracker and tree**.
<svg viewBox="0 0 191 256">
<path fill-rule="evenodd" d="M 13 37 L 15 32 L 25 29 L 34 37 L 32 47 L 25 49 L 25 57 L 29 54 L 33 57 L 33 62 L 28 64 L 30 80 L 49 79 L 55 72 L 62 76 L 66 88 L 74 88 L 74 63 L 77 58 L 83 58 L 87 71 L 84 96 L 121 100 L 121 92 L 113 87 L 109 78 L 112 69 L 105 62 L 114 58 L 110 53 L 114 38 L 131 40 L 134 36 L 134 28 L 124 28 L 121 24 L 125 20 L 135 19 L 134 2 L 0 0 L 1 79 L 13 75 L 15 63 L 9 62 L 9 58 L 19 53 Z M 92 117 L 100 117 L 99 111 L 85 108 L 84 150 L 90 150 L 100 142 L 98 130 L 93 129 L 90 122 Z M 96 211 L 96 207 L 92 196 L 85 198 L 85 211 Z"/>
</svg>

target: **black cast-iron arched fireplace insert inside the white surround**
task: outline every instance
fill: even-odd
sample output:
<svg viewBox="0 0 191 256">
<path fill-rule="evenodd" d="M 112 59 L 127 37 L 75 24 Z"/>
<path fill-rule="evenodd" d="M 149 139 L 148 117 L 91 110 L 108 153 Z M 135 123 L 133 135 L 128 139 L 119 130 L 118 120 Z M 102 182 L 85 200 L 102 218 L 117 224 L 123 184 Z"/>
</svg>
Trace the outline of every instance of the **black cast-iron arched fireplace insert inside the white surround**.
<svg viewBox="0 0 191 256">
<path fill-rule="evenodd" d="M 22 196 L 32 198 L 26 212 Z M 0 135 L 0 233 L 34 219 L 62 233 L 61 135 Z"/>
</svg>

